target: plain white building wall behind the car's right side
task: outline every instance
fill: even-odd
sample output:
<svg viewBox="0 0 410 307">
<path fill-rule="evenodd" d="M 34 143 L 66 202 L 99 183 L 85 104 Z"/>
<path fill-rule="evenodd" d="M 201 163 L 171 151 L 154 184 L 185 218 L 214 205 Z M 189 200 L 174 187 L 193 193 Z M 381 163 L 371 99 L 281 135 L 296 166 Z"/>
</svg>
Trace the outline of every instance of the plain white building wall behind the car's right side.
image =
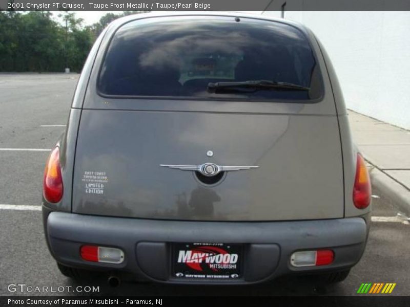
<svg viewBox="0 0 410 307">
<path fill-rule="evenodd" d="M 284 17 L 322 42 L 348 108 L 410 129 L 410 12 L 285 11 Z"/>
</svg>

